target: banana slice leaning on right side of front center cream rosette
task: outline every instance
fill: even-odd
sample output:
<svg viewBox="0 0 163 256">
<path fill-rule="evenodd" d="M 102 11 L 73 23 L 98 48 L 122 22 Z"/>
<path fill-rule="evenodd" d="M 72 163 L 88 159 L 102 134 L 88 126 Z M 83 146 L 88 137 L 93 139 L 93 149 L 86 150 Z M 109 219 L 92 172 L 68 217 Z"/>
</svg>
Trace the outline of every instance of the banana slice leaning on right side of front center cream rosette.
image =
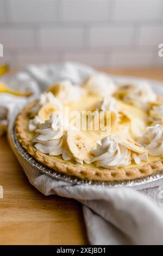
<svg viewBox="0 0 163 256">
<path fill-rule="evenodd" d="M 133 139 L 126 139 L 121 137 L 120 135 L 115 135 L 112 136 L 118 143 L 120 143 L 121 145 L 123 145 L 124 147 L 142 154 L 142 153 L 147 153 L 147 150 L 139 143 L 137 143 L 136 141 L 134 141 Z"/>
</svg>

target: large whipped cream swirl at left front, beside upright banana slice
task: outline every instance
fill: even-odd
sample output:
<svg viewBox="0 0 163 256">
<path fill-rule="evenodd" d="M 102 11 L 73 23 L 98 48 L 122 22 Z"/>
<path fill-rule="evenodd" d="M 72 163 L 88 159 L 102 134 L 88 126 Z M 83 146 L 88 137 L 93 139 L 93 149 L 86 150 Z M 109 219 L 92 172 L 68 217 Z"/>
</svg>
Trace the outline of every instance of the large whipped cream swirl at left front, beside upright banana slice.
<svg viewBox="0 0 163 256">
<path fill-rule="evenodd" d="M 58 114 L 53 114 L 45 121 L 39 124 L 35 133 L 34 147 L 42 153 L 58 156 L 63 151 L 64 128 L 62 119 Z"/>
</svg>

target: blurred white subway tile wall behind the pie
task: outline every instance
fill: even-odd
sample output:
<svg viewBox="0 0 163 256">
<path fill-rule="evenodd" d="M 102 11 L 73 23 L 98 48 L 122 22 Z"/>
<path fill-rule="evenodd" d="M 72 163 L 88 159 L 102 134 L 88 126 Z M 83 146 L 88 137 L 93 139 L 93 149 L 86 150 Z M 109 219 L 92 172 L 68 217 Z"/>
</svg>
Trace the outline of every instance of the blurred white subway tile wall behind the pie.
<svg viewBox="0 0 163 256">
<path fill-rule="evenodd" d="M 74 60 L 163 66 L 162 0 L 0 0 L 0 43 L 12 67 Z"/>
</svg>

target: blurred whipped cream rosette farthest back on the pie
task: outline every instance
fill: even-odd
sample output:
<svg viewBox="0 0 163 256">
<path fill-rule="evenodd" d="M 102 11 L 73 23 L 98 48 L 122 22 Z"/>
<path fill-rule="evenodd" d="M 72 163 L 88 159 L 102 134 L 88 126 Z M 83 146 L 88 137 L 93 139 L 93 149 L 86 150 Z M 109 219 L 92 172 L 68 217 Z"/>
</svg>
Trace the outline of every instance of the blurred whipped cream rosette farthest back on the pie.
<svg viewBox="0 0 163 256">
<path fill-rule="evenodd" d="M 89 79 L 83 84 L 83 88 L 87 90 L 89 95 L 98 96 L 110 96 L 115 90 L 116 86 L 114 82 L 103 74 L 97 74 L 89 77 Z"/>
</svg>

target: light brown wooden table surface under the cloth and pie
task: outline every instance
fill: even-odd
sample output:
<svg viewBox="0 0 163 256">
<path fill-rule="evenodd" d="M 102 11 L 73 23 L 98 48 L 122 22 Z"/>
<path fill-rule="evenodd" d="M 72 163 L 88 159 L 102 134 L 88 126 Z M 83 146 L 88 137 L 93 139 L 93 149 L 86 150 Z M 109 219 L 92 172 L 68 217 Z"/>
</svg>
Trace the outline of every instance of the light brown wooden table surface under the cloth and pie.
<svg viewBox="0 0 163 256">
<path fill-rule="evenodd" d="M 105 70 L 163 81 L 163 69 Z M 58 196 L 43 196 L 29 184 L 7 138 L 0 139 L 1 245 L 86 245 L 82 205 Z"/>
</svg>

